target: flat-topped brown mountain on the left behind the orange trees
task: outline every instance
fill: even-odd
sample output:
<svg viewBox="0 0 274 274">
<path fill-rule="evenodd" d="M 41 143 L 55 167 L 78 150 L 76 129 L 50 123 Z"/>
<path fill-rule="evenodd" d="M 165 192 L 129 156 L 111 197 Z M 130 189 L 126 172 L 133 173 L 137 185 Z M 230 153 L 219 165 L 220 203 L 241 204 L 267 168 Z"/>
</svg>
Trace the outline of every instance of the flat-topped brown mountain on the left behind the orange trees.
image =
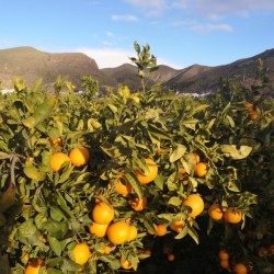
<svg viewBox="0 0 274 274">
<path fill-rule="evenodd" d="M 43 78 L 44 85 L 53 87 L 58 76 L 70 80 L 80 89 L 81 76 L 92 76 L 105 85 L 117 84 L 104 75 L 92 58 L 80 53 L 49 54 L 33 47 L 16 47 L 0 50 L 0 80 L 4 89 L 12 88 L 12 79 L 22 77 L 32 85 Z"/>
</svg>

